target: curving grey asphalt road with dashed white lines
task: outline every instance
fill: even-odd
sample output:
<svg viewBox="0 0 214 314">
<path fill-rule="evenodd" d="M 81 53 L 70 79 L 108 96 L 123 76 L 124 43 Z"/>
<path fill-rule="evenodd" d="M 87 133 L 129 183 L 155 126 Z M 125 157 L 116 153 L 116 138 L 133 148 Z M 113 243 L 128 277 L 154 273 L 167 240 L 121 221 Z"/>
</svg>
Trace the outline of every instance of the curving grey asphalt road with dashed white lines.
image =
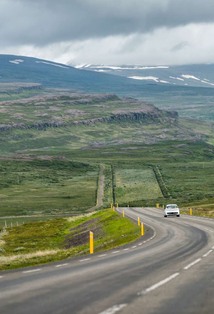
<svg viewBox="0 0 214 314">
<path fill-rule="evenodd" d="M 157 208 L 119 211 L 123 209 L 130 219 L 139 216 L 144 223 L 140 241 L 55 264 L 0 272 L 1 312 L 212 314 L 214 219 L 164 218 Z"/>
</svg>

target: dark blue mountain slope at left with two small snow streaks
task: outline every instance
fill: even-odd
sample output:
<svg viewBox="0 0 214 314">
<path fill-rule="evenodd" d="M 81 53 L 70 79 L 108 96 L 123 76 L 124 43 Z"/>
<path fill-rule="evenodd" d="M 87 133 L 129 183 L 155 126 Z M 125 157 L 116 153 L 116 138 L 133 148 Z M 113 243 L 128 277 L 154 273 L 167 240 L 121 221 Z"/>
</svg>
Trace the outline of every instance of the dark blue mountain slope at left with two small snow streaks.
<svg viewBox="0 0 214 314">
<path fill-rule="evenodd" d="M 33 82 L 45 87 L 76 88 L 85 91 L 111 91 L 126 89 L 127 86 L 138 86 L 150 82 L 133 82 L 133 80 L 102 73 L 85 72 L 64 64 L 47 60 L 0 55 L 0 83 Z"/>
</svg>

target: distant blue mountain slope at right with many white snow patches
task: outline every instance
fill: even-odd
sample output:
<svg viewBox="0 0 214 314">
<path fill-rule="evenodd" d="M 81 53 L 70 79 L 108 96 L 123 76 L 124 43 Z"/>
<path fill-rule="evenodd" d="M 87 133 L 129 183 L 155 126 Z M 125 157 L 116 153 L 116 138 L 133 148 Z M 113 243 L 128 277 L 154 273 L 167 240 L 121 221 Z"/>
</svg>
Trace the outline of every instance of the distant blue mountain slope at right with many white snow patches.
<svg viewBox="0 0 214 314">
<path fill-rule="evenodd" d="M 105 65 L 77 64 L 67 62 L 75 68 L 150 80 L 158 84 L 174 84 L 181 86 L 212 87 L 214 88 L 214 64 L 187 64 L 179 66 L 145 66 L 145 65 Z"/>
</svg>

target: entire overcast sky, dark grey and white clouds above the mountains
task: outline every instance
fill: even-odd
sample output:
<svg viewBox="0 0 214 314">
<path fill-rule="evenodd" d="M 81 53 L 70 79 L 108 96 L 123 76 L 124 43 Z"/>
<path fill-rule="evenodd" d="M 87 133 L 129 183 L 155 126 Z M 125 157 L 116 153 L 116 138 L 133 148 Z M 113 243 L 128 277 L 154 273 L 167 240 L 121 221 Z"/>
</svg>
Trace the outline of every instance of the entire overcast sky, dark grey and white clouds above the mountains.
<svg viewBox="0 0 214 314">
<path fill-rule="evenodd" d="M 214 62 L 213 0 L 0 0 L 0 53 L 65 63 Z"/>
</svg>

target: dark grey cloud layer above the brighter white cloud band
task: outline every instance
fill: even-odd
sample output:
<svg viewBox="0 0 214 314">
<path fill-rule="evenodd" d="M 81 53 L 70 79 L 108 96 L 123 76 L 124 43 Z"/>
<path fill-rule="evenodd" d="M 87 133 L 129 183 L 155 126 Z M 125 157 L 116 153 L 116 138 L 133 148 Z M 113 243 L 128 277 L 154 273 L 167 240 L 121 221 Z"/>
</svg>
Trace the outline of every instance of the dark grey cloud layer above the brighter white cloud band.
<svg viewBox="0 0 214 314">
<path fill-rule="evenodd" d="M 214 21 L 213 0 L 2 0 L 2 46 L 147 33 Z"/>
</svg>

